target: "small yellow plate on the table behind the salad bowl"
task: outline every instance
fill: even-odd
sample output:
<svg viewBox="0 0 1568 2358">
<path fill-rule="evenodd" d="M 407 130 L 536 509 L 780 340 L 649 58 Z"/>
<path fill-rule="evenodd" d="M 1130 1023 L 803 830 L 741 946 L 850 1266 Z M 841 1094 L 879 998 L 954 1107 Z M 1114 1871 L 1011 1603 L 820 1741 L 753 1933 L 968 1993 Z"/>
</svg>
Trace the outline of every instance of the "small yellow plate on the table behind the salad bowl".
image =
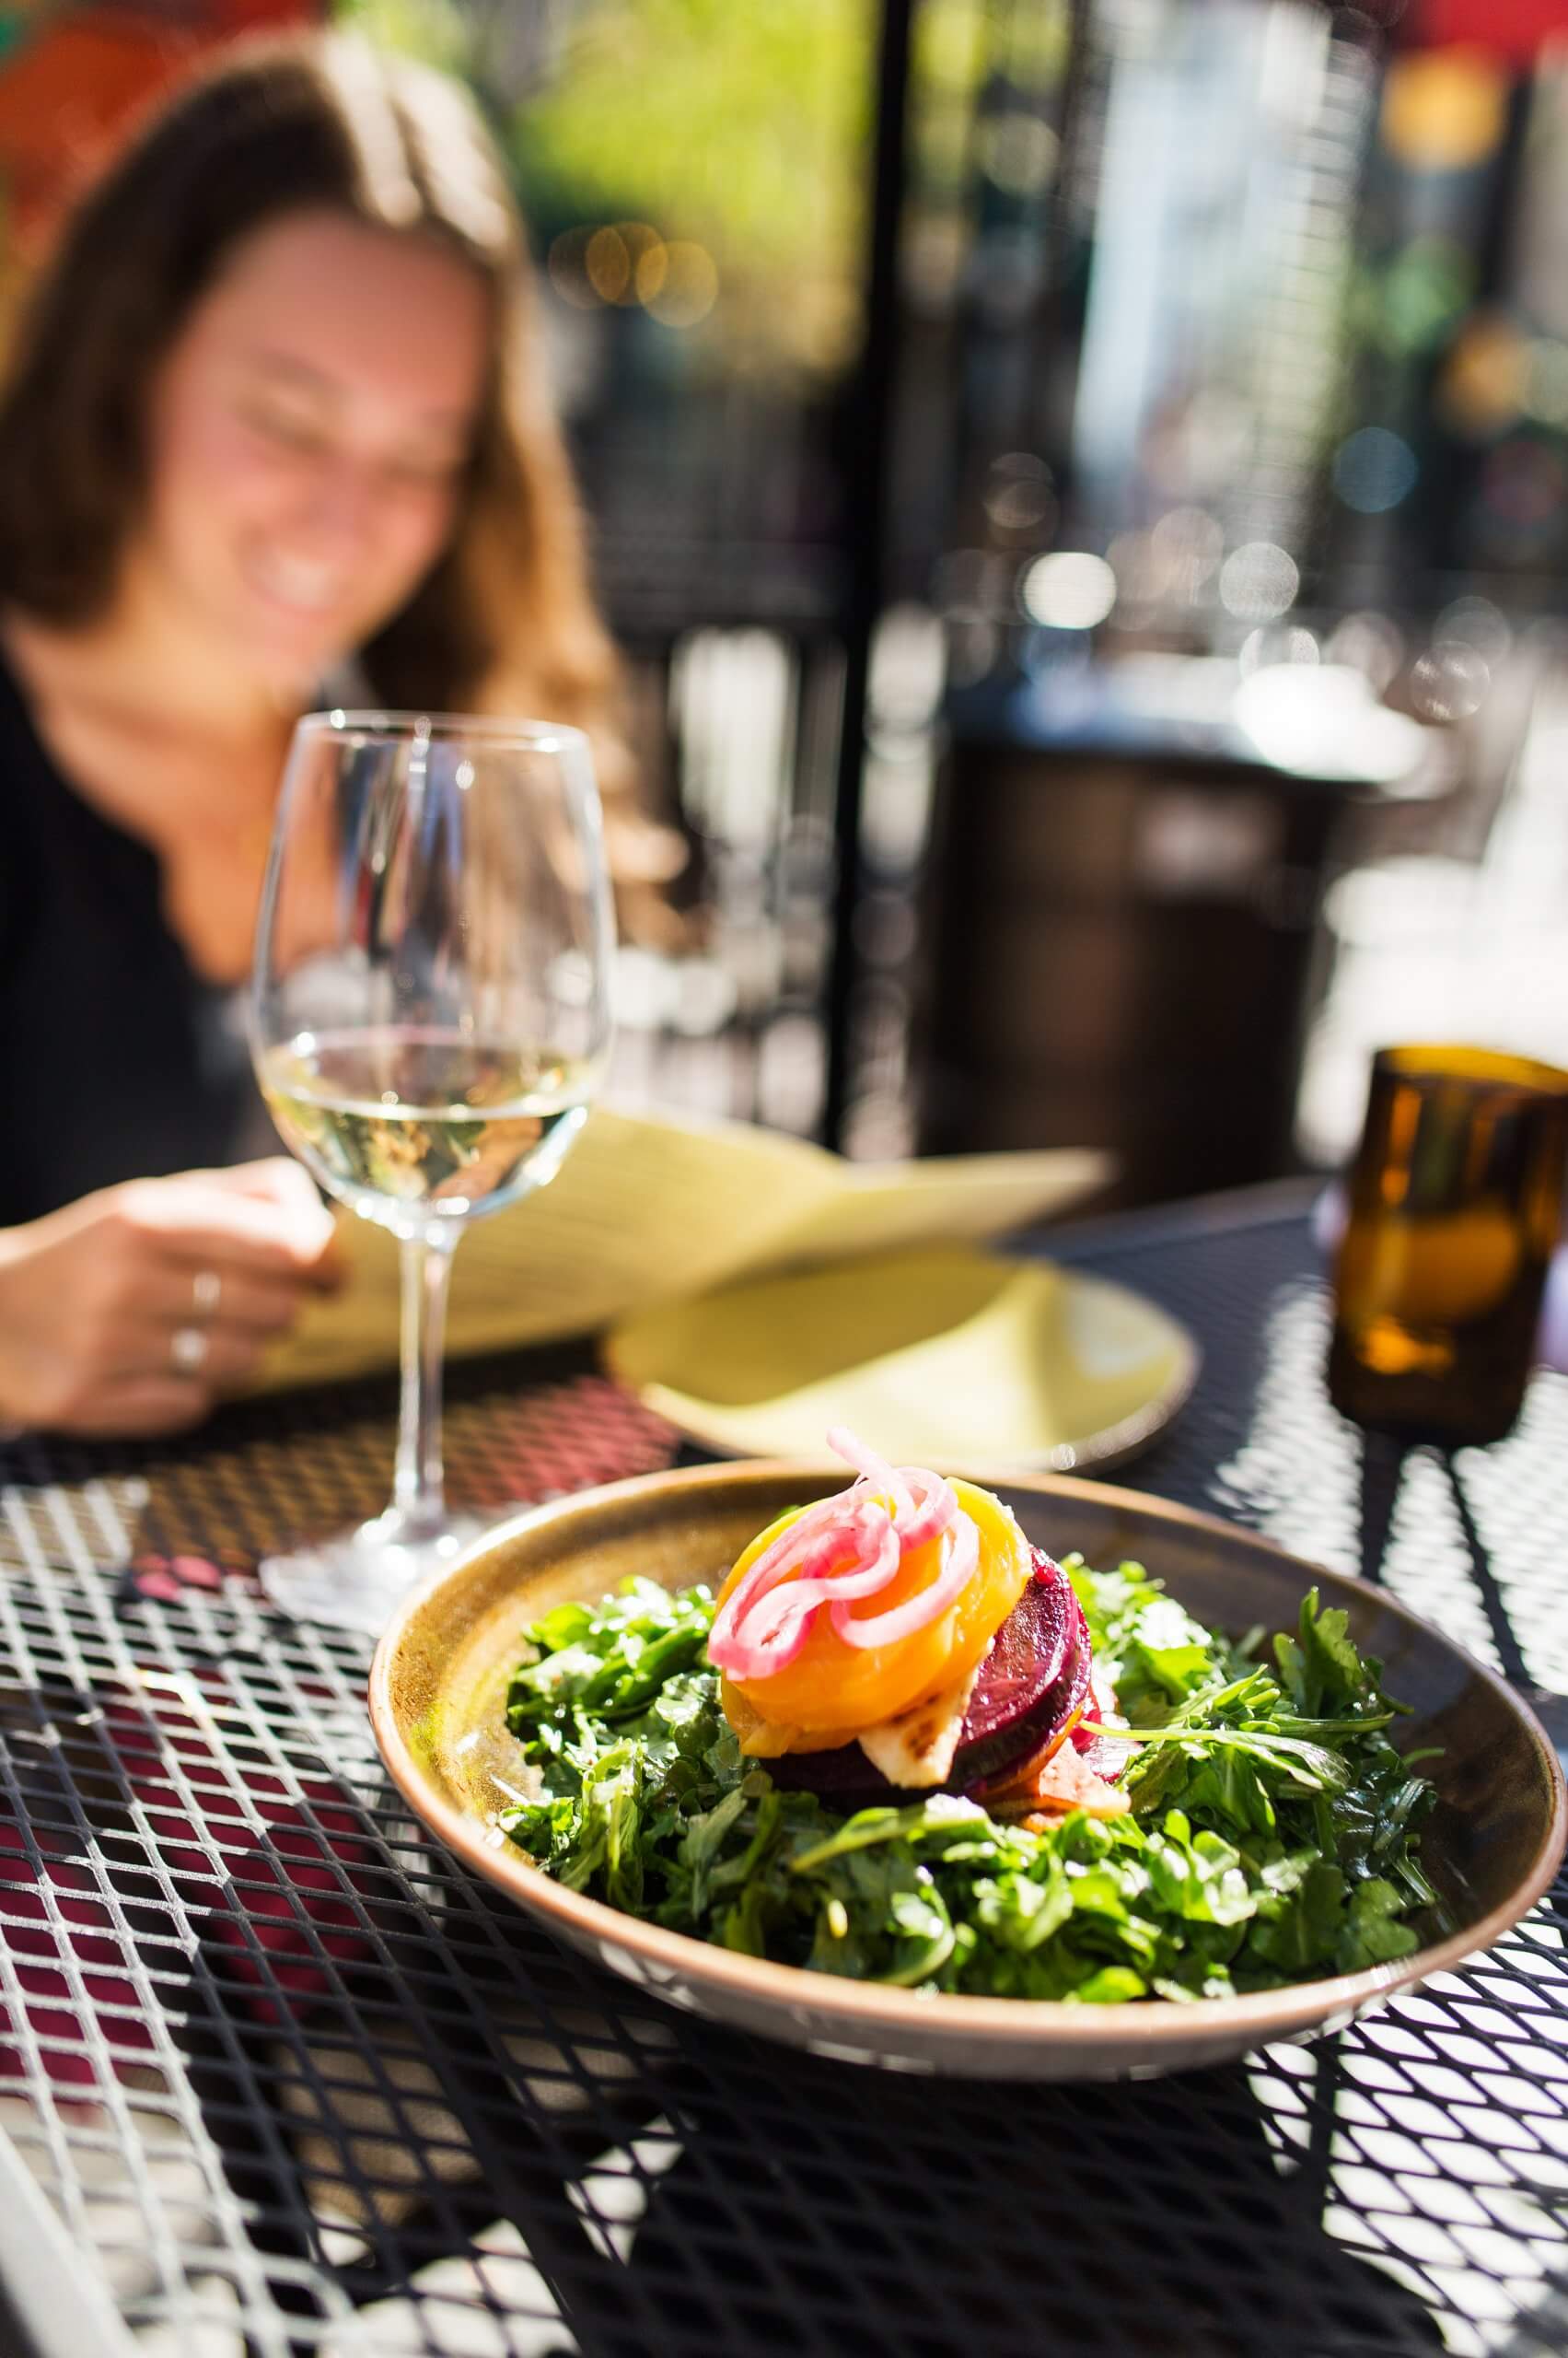
<svg viewBox="0 0 1568 2358">
<path fill-rule="evenodd" d="M 1049 1262 L 929 1247 L 762 1278 L 627 1318 L 604 1361 L 703 1448 L 816 1455 L 830 1424 L 896 1464 L 1122 1464 L 1177 1415 L 1198 1344 L 1141 1295 Z"/>
</svg>

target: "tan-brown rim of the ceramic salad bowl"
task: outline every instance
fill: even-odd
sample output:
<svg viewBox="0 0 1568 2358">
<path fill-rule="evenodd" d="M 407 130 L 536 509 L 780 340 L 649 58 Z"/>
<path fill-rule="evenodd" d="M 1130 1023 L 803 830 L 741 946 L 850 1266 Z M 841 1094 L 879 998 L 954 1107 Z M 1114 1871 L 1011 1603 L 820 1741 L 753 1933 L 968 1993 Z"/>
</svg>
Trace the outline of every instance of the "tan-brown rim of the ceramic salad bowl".
<svg viewBox="0 0 1568 2358">
<path fill-rule="evenodd" d="M 1066 2047 L 1103 2049 L 1106 2035 L 1113 2028 L 1125 2040 L 1127 2049 L 1146 2047 L 1151 2054 L 1158 2054 L 1160 2044 L 1167 2040 L 1203 2040 L 1205 2035 L 1219 2037 L 1231 2030 L 1254 2030 L 1257 2042 L 1264 2042 L 1269 2037 L 1280 2037 L 1292 2028 L 1332 2028 L 1337 2021 L 1349 2021 L 1410 1983 L 1452 1971 L 1452 1967 L 1462 1964 L 1464 1957 L 1474 1957 L 1481 1950 L 1493 1948 L 1493 1943 L 1518 1924 L 1518 1919 L 1528 1915 L 1535 1901 L 1540 1901 L 1551 1886 L 1551 1879 L 1563 1860 L 1563 1851 L 1568 1849 L 1568 1785 L 1563 1780 L 1563 1764 L 1556 1747 L 1547 1738 L 1535 1712 L 1521 1695 L 1514 1693 L 1507 1679 L 1502 1679 L 1485 1662 L 1478 1662 L 1434 1622 L 1412 1613 L 1410 1606 L 1405 1606 L 1389 1589 L 1370 1589 L 1370 1594 L 1377 1596 L 1379 1606 L 1394 1613 L 1396 1620 L 1408 1622 L 1427 1639 L 1438 1639 L 1438 1644 L 1445 1646 L 1448 1653 L 1455 1653 L 1467 1669 L 1490 1686 L 1502 1707 L 1523 1724 L 1526 1735 L 1547 1771 L 1551 1813 L 1523 1882 L 1516 1884 L 1509 1898 L 1490 1908 L 1478 1924 L 1467 1931 L 1450 1934 L 1445 1941 L 1436 1941 L 1429 1948 L 1412 1950 L 1408 1957 L 1365 1967 L 1358 1974 L 1294 1981 L 1278 1990 L 1247 1990 L 1238 1997 L 1193 1997 L 1184 2004 L 1170 1997 L 1146 1997 L 1127 2000 L 1118 2007 L 1085 2007 L 1056 1997 L 979 1997 L 957 1990 L 934 1990 L 922 1995 L 920 1990 L 898 1990 L 877 1981 L 809 1974 L 804 1967 L 778 1964 L 771 1957 L 747 1957 L 738 1950 L 719 1948 L 714 1941 L 698 1941 L 696 1934 L 672 1931 L 665 1924 L 651 1924 L 646 1917 L 627 1915 L 620 1908 L 611 1908 L 608 1901 L 594 1901 L 580 1891 L 568 1891 L 566 1884 L 559 1884 L 540 1868 L 528 1865 L 514 1844 L 495 1849 L 495 1844 L 486 1839 L 488 1827 L 453 1809 L 450 1802 L 431 1787 L 398 1728 L 391 1700 L 391 1665 L 408 1625 L 434 1594 L 462 1580 L 474 1563 L 488 1556 L 495 1547 L 514 1540 L 519 1533 L 535 1530 L 554 1521 L 571 1521 L 575 1514 L 594 1514 L 604 1504 L 620 1504 L 627 1497 L 679 1493 L 693 1483 L 700 1483 L 703 1488 L 714 1486 L 745 1490 L 747 1486 L 762 1481 L 821 1481 L 823 1476 L 842 1481 L 844 1467 L 830 1460 L 745 1457 L 722 1464 L 670 1467 L 660 1474 L 634 1474 L 625 1481 L 597 1483 L 592 1490 L 571 1490 L 566 1497 L 547 1500 L 540 1507 L 526 1507 L 521 1514 L 495 1523 L 495 1528 L 483 1533 L 472 1547 L 465 1547 L 460 1556 L 408 1589 L 391 1622 L 382 1632 L 370 1662 L 368 1702 L 375 1743 L 391 1783 L 398 1787 L 424 1827 L 434 1832 L 457 1858 L 462 1858 L 465 1865 L 469 1865 L 476 1875 L 483 1875 L 486 1882 L 495 1884 L 531 1917 L 542 1922 L 545 1929 L 571 1926 L 578 1945 L 592 1948 L 594 1952 L 604 1952 L 604 1948 L 632 1952 L 639 1962 L 653 1969 L 648 1974 L 648 1985 L 655 1993 L 665 1976 L 672 1981 L 696 1976 L 700 1983 L 719 1988 L 733 2000 L 747 2004 L 764 2002 L 795 2018 L 799 2018 L 802 2011 L 809 2016 L 837 2016 L 846 2033 L 882 2030 L 898 2040 L 910 2033 L 929 2033 L 941 2023 L 953 2037 L 964 2037 L 979 2042 L 981 2047 L 995 2044 L 997 2049 L 1014 2047 L 1019 2040 L 1028 2037 L 1052 2040 Z M 1085 1502 L 1113 1509 L 1120 1507 L 1137 1514 L 1153 1514 L 1155 1521 L 1179 1523 L 1195 1533 L 1214 1533 L 1228 1542 L 1243 1537 L 1250 1547 L 1278 1556 L 1280 1563 L 1297 1566 L 1309 1575 L 1327 1573 L 1335 1585 L 1351 1585 L 1356 1580 L 1351 1573 L 1335 1573 L 1327 1566 L 1313 1566 L 1311 1559 L 1297 1556 L 1292 1549 L 1280 1547 L 1278 1540 L 1247 1530 L 1243 1523 L 1226 1523 L 1221 1516 L 1203 1514 L 1195 1507 L 1184 1507 L 1177 1500 L 1162 1500 L 1153 1493 L 1127 1490 L 1103 1481 L 1080 1481 L 1066 1474 L 1002 1476 L 1000 1469 L 993 1469 L 990 1481 L 1012 1490 L 1037 1493 L 1042 1497 L 1082 1497 Z M 931 2011 L 934 2007 L 938 2007 L 938 2014 Z"/>
</svg>

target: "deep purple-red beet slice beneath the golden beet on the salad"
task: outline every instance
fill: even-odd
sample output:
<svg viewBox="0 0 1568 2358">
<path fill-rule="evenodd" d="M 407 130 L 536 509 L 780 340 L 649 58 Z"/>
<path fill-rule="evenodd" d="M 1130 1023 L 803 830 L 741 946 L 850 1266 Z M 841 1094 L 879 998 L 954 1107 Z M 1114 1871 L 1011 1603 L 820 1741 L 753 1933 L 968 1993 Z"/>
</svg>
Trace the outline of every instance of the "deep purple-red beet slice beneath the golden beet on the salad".
<svg viewBox="0 0 1568 2358">
<path fill-rule="evenodd" d="M 1061 1566 L 1040 1549 L 1035 1575 L 995 1634 L 969 1695 L 953 1771 L 922 1792 L 971 1792 L 1045 1750 L 1089 1686 L 1089 1632 Z M 776 1785 L 816 1792 L 835 1809 L 910 1799 L 875 1768 L 858 1743 L 830 1752 L 785 1752 L 764 1761 Z"/>
</svg>

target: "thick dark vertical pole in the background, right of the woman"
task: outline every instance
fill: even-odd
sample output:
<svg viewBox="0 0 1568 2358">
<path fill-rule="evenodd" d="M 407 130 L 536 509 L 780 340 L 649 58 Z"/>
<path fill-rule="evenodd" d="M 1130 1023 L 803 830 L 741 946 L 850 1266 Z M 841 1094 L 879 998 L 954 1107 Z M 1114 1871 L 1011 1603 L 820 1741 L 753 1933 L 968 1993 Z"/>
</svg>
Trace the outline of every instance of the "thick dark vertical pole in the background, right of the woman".
<svg viewBox="0 0 1568 2358">
<path fill-rule="evenodd" d="M 870 641 L 882 606 L 887 476 L 891 460 L 894 377 L 898 358 L 898 215 L 905 174 L 905 101 L 915 0 L 882 0 L 877 38 L 877 125 L 872 200 L 865 241 L 865 337 L 856 368 L 844 450 L 844 724 L 832 814 L 837 856 L 832 894 L 832 964 L 828 969 L 828 1092 L 823 1134 L 837 1146 L 851 1082 L 851 1009 L 856 986 L 854 915 L 861 894 L 861 780 L 865 769 L 865 689 Z"/>
</svg>

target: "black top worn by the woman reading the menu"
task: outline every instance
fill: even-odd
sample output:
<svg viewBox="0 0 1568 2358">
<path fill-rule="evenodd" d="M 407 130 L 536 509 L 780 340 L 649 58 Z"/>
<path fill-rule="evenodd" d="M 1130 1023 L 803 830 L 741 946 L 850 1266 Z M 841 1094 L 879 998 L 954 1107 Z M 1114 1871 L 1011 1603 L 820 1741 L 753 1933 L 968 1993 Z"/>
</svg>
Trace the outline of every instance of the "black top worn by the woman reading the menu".
<svg viewBox="0 0 1568 2358">
<path fill-rule="evenodd" d="M 278 1151 L 241 993 L 191 969 L 160 889 L 158 856 L 66 783 L 0 660 L 0 1229 Z"/>
</svg>

